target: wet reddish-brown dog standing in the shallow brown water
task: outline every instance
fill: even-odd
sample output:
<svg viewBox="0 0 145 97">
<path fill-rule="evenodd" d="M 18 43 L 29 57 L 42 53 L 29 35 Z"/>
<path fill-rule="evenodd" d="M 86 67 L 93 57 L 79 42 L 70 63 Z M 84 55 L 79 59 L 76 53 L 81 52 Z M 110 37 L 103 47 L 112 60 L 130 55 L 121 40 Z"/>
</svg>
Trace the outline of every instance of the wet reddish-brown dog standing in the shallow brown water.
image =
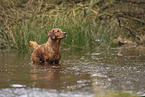
<svg viewBox="0 0 145 97">
<path fill-rule="evenodd" d="M 65 38 L 66 32 L 54 28 L 48 33 L 48 41 L 45 44 L 37 44 L 36 41 L 29 41 L 34 49 L 31 60 L 33 63 L 44 62 L 48 64 L 59 64 L 61 58 L 61 39 Z"/>
</svg>

